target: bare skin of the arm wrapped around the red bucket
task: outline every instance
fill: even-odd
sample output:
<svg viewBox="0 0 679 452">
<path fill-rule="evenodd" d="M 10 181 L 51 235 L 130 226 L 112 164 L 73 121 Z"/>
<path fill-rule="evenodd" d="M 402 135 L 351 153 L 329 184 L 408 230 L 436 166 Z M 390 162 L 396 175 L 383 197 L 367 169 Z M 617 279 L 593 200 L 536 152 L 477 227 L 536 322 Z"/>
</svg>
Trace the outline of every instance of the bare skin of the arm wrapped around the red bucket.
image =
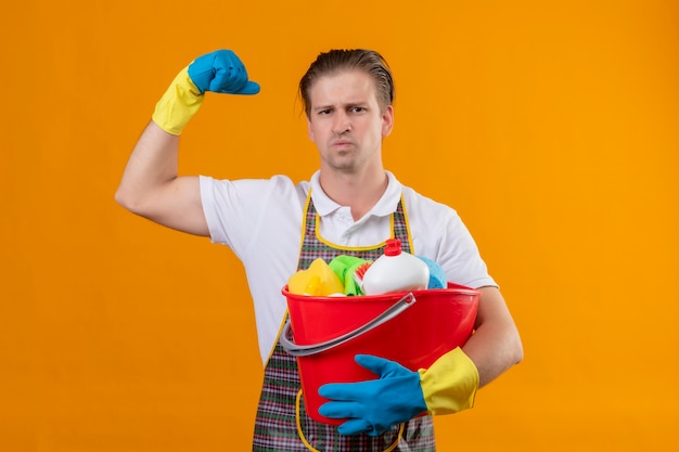
<svg viewBox="0 0 679 452">
<path fill-rule="evenodd" d="M 482 287 L 476 332 L 462 348 L 478 370 L 479 387 L 523 359 L 516 325 L 497 287 Z"/>
</svg>

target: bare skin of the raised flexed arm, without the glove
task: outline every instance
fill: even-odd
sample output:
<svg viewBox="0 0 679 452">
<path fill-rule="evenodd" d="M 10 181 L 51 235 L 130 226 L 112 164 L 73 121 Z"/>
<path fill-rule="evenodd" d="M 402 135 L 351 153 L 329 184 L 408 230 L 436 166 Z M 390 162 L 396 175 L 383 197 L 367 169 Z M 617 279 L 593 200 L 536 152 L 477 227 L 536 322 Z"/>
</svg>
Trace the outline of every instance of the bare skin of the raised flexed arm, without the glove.
<svg viewBox="0 0 679 452">
<path fill-rule="evenodd" d="M 209 235 L 197 177 L 178 177 L 179 137 L 150 121 L 127 163 L 115 199 L 159 224 Z"/>
</svg>

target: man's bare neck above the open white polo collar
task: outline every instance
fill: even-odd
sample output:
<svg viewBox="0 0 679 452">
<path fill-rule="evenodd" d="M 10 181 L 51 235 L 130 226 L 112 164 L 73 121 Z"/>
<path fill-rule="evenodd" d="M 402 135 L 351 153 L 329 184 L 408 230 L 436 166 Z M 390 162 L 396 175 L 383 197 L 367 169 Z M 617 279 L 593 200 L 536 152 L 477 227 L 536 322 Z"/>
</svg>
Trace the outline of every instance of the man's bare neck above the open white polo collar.
<svg viewBox="0 0 679 452">
<path fill-rule="evenodd" d="M 366 215 L 386 191 L 388 179 L 384 168 L 364 173 L 323 171 L 320 183 L 323 192 L 335 203 L 351 209 L 354 220 Z"/>
</svg>

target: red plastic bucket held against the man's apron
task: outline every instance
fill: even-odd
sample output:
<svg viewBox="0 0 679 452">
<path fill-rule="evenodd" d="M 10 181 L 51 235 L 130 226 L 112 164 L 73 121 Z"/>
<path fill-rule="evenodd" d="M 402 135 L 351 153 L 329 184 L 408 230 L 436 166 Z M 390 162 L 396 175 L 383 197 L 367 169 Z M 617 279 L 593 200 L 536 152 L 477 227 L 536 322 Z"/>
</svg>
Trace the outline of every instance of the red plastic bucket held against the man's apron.
<svg viewBox="0 0 679 452">
<path fill-rule="evenodd" d="M 310 297 L 291 294 L 285 286 L 283 295 L 290 320 L 280 339 L 297 358 L 307 414 L 340 425 L 344 419 L 318 413 L 328 401 L 318 395 L 319 387 L 375 379 L 354 361 L 359 353 L 411 371 L 427 369 L 472 335 L 481 293 L 448 283 L 448 288 L 360 297 Z"/>
</svg>

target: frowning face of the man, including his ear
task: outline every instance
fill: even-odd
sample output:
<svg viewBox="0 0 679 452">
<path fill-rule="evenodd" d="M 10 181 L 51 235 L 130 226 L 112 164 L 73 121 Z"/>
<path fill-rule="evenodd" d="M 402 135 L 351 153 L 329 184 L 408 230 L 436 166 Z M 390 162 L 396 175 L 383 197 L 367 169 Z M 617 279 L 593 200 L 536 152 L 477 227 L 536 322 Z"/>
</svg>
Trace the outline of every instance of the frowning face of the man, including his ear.
<svg viewBox="0 0 679 452">
<path fill-rule="evenodd" d="M 382 139 L 392 131 L 394 109 L 377 103 L 372 78 L 361 70 L 320 77 L 309 90 L 309 139 L 321 169 L 351 173 L 370 163 L 382 165 Z"/>
</svg>

